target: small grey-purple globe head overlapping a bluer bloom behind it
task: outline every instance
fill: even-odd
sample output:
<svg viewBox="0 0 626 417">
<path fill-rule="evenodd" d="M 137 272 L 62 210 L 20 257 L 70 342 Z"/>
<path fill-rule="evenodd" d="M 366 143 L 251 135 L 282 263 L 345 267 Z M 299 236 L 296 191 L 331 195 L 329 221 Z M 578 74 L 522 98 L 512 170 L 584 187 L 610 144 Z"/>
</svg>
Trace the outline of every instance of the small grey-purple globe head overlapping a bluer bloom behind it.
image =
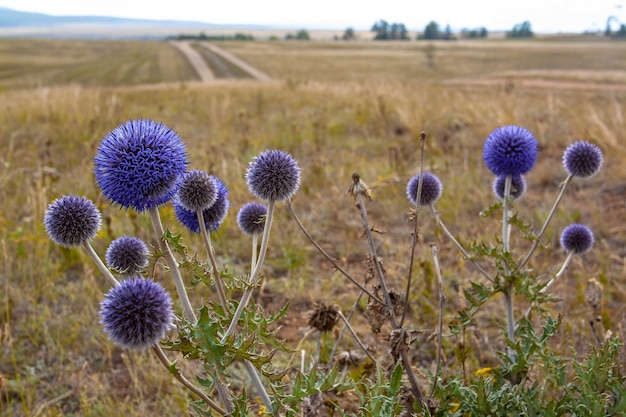
<svg viewBox="0 0 626 417">
<path fill-rule="evenodd" d="M 178 201 L 187 210 L 204 210 L 217 200 L 215 177 L 204 171 L 186 172 L 178 187 Z"/>
</svg>

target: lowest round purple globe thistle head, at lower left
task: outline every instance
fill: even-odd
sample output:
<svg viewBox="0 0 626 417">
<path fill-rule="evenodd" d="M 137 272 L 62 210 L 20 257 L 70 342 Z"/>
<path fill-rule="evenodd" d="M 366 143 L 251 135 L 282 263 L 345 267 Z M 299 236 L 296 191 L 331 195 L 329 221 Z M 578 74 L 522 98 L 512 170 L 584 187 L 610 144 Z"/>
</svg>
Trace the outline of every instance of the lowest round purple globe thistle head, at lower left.
<svg viewBox="0 0 626 417">
<path fill-rule="evenodd" d="M 174 321 L 172 299 L 151 279 L 121 281 L 100 303 L 100 323 L 119 346 L 145 349 L 156 346 Z"/>
</svg>

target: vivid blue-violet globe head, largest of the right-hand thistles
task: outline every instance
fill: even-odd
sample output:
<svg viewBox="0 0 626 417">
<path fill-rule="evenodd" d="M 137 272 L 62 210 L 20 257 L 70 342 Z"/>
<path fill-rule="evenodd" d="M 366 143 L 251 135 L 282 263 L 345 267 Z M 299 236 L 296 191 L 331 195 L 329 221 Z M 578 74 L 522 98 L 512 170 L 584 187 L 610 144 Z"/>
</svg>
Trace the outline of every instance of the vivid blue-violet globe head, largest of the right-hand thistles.
<svg viewBox="0 0 626 417">
<path fill-rule="evenodd" d="M 515 126 L 495 129 L 483 146 L 483 159 L 495 175 L 518 176 L 527 173 L 537 159 L 537 141 L 528 130 Z"/>
</svg>

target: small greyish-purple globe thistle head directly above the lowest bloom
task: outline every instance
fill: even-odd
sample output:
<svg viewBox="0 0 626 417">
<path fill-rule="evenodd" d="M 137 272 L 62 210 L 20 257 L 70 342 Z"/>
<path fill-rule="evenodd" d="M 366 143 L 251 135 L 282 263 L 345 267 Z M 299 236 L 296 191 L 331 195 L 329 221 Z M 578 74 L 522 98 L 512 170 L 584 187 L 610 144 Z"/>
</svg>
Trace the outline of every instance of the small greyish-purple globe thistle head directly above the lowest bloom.
<svg viewBox="0 0 626 417">
<path fill-rule="evenodd" d="M 107 266 L 127 275 L 135 275 L 148 265 L 148 247 L 134 236 L 115 239 L 105 253 Z"/>
</svg>

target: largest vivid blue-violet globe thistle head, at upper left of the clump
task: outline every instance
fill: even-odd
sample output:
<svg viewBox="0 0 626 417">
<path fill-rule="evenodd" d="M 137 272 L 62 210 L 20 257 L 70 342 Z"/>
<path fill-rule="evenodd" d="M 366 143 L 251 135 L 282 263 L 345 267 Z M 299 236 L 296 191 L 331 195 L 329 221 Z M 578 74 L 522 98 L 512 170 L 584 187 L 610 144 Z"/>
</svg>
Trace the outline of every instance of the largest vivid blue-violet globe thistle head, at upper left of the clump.
<svg viewBox="0 0 626 417">
<path fill-rule="evenodd" d="M 151 120 L 131 120 L 113 129 L 94 159 L 104 196 L 140 212 L 169 201 L 186 169 L 183 142 L 174 131 Z"/>
</svg>

